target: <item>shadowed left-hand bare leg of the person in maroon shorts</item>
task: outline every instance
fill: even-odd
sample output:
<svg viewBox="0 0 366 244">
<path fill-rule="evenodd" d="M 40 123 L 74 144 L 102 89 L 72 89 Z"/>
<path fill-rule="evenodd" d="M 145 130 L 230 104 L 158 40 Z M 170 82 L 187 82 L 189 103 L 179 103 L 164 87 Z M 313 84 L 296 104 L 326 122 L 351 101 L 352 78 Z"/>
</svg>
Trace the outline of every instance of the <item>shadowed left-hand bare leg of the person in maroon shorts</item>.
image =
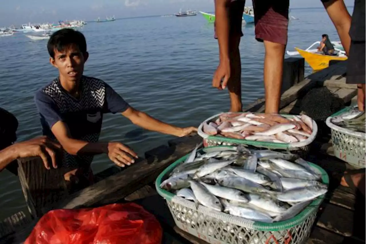
<svg viewBox="0 0 366 244">
<path fill-rule="evenodd" d="M 242 64 L 239 52 L 240 36 L 231 38 L 230 48 L 230 69 L 231 76 L 227 87 L 230 96 L 230 112 L 242 111 Z"/>
</svg>

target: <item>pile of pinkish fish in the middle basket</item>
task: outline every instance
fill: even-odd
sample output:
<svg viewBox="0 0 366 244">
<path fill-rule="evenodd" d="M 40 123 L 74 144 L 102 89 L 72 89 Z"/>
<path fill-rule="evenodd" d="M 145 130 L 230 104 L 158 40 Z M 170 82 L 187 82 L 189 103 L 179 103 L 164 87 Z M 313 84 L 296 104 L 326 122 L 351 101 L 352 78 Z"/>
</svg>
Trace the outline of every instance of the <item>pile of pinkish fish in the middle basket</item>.
<svg viewBox="0 0 366 244">
<path fill-rule="evenodd" d="M 285 118 L 279 114 L 223 113 L 215 121 L 203 122 L 202 130 L 210 136 L 296 143 L 313 133 L 313 119 L 307 115 Z"/>
</svg>

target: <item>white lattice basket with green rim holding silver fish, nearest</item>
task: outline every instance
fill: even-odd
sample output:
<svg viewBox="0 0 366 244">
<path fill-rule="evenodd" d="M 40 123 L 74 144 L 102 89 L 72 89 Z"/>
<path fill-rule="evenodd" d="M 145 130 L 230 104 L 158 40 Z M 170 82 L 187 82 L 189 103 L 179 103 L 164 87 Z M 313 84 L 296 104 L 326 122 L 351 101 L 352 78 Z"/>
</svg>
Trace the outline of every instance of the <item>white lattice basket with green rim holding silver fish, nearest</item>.
<svg viewBox="0 0 366 244">
<path fill-rule="evenodd" d="M 310 236 L 311 227 L 324 196 L 315 199 L 294 218 L 275 223 L 263 223 L 225 214 L 202 205 L 197 209 L 193 202 L 161 189 L 160 184 L 163 179 L 176 166 L 184 162 L 187 156 L 167 167 L 155 182 L 157 192 L 167 200 L 173 219 L 180 229 L 211 244 L 300 244 Z M 322 174 L 322 182 L 328 185 L 328 174 L 316 164 L 310 162 L 309 164 Z"/>
</svg>

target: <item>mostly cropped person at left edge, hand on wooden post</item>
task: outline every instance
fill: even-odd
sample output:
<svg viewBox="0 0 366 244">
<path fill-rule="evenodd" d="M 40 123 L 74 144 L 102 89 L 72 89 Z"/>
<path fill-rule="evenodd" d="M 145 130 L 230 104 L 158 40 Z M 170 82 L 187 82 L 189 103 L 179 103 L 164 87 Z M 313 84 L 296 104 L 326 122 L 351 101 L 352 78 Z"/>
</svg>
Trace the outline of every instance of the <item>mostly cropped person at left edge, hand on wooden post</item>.
<svg viewBox="0 0 366 244">
<path fill-rule="evenodd" d="M 18 120 L 15 116 L 0 108 L 0 171 L 7 169 L 17 175 L 18 164 L 15 160 L 36 156 L 41 157 L 46 169 L 50 169 L 51 162 L 57 168 L 55 151 L 61 145 L 45 136 L 15 143 L 17 128 Z"/>
</svg>

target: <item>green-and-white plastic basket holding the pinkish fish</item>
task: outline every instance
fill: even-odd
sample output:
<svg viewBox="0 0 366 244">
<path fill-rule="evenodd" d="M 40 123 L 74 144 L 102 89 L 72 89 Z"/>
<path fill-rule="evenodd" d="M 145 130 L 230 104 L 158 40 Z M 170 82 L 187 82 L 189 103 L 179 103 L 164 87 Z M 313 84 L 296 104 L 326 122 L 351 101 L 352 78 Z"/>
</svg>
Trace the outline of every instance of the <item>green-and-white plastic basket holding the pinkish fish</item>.
<svg viewBox="0 0 366 244">
<path fill-rule="evenodd" d="M 215 121 L 221 114 L 216 114 L 208 119 L 206 119 L 204 122 L 211 122 Z M 254 113 L 260 115 L 260 113 Z M 281 116 L 286 118 L 294 118 L 295 115 L 289 115 L 289 114 L 281 114 Z M 313 121 L 313 133 L 309 138 L 307 138 L 305 141 L 297 142 L 297 143 L 273 143 L 273 142 L 265 142 L 265 141 L 253 141 L 253 140 L 241 140 L 241 139 L 233 139 L 233 138 L 227 138 L 223 136 L 210 136 L 203 132 L 203 125 L 198 126 L 198 134 L 203 138 L 205 147 L 213 147 L 217 145 L 238 145 L 238 144 L 245 144 L 245 145 L 252 145 L 255 147 L 262 147 L 262 148 L 269 148 L 269 149 L 288 149 L 290 151 L 295 150 L 302 150 L 302 151 L 309 151 L 309 145 L 314 141 L 315 137 L 318 133 L 318 126 L 315 121 Z"/>
</svg>

